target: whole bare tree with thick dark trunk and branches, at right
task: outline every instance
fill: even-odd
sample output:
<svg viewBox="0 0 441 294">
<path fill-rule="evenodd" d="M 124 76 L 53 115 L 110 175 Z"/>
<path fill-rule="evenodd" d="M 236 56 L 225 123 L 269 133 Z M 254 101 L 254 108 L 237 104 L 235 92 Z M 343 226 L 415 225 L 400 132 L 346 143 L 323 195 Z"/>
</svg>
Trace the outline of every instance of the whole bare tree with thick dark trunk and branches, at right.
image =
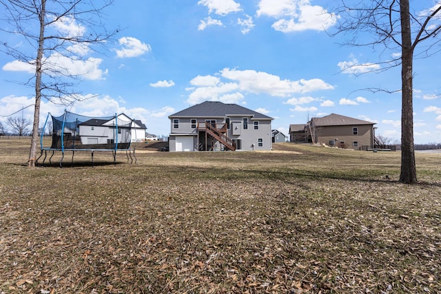
<svg viewBox="0 0 441 294">
<path fill-rule="evenodd" d="M 413 3 L 420 4 L 420 1 Z M 348 33 L 349 45 L 367 45 L 381 47 L 380 52 L 396 50 L 400 57 L 380 61 L 382 70 L 401 66 L 401 174 L 400 182 L 417 182 L 415 152 L 413 143 L 413 59 L 415 56 L 426 57 L 439 51 L 435 45 L 440 42 L 437 36 L 441 30 L 441 5 L 427 7 L 427 10 L 415 12 L 409 6 L 409 0 L 374 0 L 357 1 L 348 5 L 342 0 L 337 12 L 340 25 L 337 34 Z M 372 39 L 366 41 L 360 36 L 367 32 Z M 429 43 L 418 47 L 422 41 Z M 396 52 L 395 51 L 395 52 Z M 389 51 L 388 51 L 389 52 Z M 394 52 L 394 51 L 392 51 Z"/>
</svg>

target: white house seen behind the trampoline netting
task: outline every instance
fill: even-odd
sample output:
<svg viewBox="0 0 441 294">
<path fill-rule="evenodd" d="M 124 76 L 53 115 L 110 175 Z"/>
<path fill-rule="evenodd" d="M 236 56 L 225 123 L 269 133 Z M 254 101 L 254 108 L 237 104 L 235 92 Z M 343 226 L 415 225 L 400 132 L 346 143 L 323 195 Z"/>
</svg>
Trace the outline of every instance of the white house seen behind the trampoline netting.
<svg viewBox="0 0 441 294">
<path fill-rule="evenodd" d="M 111 119 L 91 118 L 78 125 L 82 145 L 113 144 L 144 140 L 145 125 L 141 120 L 132 120 L 125 114 Z M 116 131 L 117 130 L 117 131 Z"/>
</svg>

